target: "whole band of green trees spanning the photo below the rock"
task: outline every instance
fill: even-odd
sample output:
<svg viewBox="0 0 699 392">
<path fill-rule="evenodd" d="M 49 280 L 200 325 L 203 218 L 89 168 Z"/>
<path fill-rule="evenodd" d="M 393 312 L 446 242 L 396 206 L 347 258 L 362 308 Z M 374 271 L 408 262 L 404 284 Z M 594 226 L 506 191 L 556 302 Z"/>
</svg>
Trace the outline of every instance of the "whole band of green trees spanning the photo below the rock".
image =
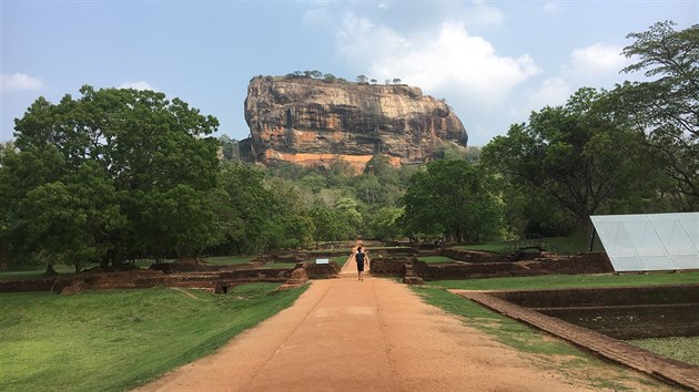
<svg viewBox="0 0 699 392">
<path fill-rule="evenodd" d="M 483 148 L 436 145 L 426 165 L 376 155 L 362 175 L 342 159 L 246 164 L 237 141 L 210 136 L 215 117 L 158 92 L 40 97 L 0 148 L 0 264 L 565 236 L 590 215 L 699 210 L 699 25 L 629 38 L 622 71 L 646 81 L 581 87 Z"/>
</svg>

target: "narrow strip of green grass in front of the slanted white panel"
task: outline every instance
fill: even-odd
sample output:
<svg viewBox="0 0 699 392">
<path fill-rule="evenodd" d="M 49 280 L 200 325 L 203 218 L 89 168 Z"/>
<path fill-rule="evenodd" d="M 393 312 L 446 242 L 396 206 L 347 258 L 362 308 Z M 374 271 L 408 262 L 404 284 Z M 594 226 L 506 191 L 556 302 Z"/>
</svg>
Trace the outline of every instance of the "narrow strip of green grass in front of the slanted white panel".
<svg viewBox="0 0 699 392">
<path fill-rule="evenodd" d="M 699 281 L 699 271 L 648 275 L 543 275 L 536 277 L 488 278 L 466 280 L 436 280 L 432 287 L 463 290 L 526 290 L 588 287 L 626 287 L 651 285 L 680 285 Z"/>
</svg>

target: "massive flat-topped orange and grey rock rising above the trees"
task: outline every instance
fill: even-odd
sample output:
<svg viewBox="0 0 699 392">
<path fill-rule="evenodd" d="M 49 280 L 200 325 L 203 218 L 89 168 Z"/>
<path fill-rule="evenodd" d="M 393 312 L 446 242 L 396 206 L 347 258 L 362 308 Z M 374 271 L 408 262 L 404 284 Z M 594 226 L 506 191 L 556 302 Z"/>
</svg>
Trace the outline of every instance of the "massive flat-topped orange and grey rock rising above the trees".
<svg viewBox="0 0 699 392">
<path fill-rule="evenodd" d="M 376 154 L 423 163 L 443 142 L 466 146 L 449 106 L 407 85 L 253 78 L 245 100 L 254 159 L 304 166 L 342 158 L 357 172 Z"/>
</svg>

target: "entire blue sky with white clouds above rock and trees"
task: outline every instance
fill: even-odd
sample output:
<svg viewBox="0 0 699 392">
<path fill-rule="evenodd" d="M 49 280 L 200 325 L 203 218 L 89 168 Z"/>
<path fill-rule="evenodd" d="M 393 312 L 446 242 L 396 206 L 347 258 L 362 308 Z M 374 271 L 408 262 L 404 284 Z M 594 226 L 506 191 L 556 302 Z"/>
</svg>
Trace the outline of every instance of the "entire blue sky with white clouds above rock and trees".
<svg viewBox="0 0 699 392">
<path fill-rule="evenodd" d="M 242 140 L 253 76 L 317 70 L 418 86 L 483 146 L 582 86 L 642 80 L 620 73 L 627 34 L 665 20 L 699 23 L 699 0 L 0 0 L 0 142 L 84 84 L 180 97 Z"/>
</svg>

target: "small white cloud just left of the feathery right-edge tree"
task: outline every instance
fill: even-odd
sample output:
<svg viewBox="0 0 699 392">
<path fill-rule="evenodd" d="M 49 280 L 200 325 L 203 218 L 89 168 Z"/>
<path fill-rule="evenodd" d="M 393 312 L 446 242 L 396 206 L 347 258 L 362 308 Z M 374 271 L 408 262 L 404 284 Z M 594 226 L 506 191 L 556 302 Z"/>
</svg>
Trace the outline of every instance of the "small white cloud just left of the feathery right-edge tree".
<svg viewBox="0 0 699 392">
<path fill-rule="evenodd" d="M 567 70 L 581 76 L 599 76 L 600 74 L 616 74 L 627 63 L 628 59 L 621 55 L 621 48 L 596 43 L 574 50 Z"/>
</svg>

